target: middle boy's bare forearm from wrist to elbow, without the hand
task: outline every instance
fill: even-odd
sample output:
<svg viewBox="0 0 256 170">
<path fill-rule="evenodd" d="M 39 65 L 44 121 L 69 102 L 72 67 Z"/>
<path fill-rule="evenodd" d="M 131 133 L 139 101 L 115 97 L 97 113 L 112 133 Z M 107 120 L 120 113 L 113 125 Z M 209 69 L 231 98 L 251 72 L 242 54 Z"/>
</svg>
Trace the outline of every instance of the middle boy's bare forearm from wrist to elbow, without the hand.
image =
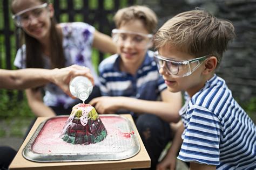
<svg viewBox="0 0 256 170">
<path fill-rule="evenodd" d="M 161 117 L 166 122 L 178 122 L 178 111 L 173 111 L 171 104 L 163 101 L 146 101 L 131 97 L 120 97 L 120 109 L 131 110 L 138 114 L 148 113 Z"/>
</svg>

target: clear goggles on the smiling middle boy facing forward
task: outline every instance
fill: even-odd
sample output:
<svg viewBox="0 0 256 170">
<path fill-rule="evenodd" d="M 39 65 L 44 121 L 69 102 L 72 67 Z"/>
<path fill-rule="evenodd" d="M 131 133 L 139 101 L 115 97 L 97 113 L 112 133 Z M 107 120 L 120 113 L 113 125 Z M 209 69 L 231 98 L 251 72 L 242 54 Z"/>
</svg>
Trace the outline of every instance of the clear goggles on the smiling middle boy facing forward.
<svg viewBox="0 0 256 170">
<path fill-rule="evenodd" d="M 120 46 L 130 43 L 131 46 L 136 48 L 146 49 L 152 45 L 152 38 L 152 34 L 143 34 L 118 29 L 112 30 L 112 39 Z"/>
</svg>

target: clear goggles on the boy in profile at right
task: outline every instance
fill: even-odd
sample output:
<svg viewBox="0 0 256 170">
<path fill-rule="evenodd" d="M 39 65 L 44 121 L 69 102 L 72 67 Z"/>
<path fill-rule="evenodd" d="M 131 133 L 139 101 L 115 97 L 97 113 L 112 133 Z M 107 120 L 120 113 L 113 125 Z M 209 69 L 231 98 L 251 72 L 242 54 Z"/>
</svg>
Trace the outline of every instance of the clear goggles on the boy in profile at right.
<svg viewBox="0 0 256 170">
<path fill-rule="evenodd" d="M 157 63 L 158 69 L 163 68 L 165 73 L 173 77 L 191 75 L 209 56 L 211 55 L 205 55 L 191 60 L 174 60 L 165 58 L 164 56 L 160 56 L 158 52 L 154 52 L 154 60 Z"/>
</svg>

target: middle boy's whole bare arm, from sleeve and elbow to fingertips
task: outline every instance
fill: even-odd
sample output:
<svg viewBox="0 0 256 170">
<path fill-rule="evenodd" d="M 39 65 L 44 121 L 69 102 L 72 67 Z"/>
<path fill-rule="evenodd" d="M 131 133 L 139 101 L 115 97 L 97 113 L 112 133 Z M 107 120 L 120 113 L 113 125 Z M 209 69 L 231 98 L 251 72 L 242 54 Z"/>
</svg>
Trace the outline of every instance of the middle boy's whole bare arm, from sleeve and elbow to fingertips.
<svg viewBox="0 0 256 170">
<path fill-rule="evenodd" d="M 132 97 L 97 97 L 90 104 L 95 106 L 99 114 L 113 114 L 125 109 L 137 113 L 154 114 L 167 122 L 178 122 L 181 108 L 181 93 L 171 93 L 167 89 L 161 92 L 163 101 L 146 101 Z"/>
</svg>

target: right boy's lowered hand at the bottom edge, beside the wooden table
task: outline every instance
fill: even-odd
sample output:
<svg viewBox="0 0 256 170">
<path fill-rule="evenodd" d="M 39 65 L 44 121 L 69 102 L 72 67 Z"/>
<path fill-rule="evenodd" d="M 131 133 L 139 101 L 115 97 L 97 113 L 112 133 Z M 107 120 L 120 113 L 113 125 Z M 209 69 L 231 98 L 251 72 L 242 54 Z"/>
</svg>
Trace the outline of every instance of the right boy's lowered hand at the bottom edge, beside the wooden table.
<svg viewBox="0 0 256 170">
<path fill-rule="evenodd" d="M 165 158 L 157 165 L 157 170 L 165 170 L 170 169 L 174 170 L 176 169 L 176 155 L 173 155 L 169 152 L 166 154 Z"/>
</svg>

